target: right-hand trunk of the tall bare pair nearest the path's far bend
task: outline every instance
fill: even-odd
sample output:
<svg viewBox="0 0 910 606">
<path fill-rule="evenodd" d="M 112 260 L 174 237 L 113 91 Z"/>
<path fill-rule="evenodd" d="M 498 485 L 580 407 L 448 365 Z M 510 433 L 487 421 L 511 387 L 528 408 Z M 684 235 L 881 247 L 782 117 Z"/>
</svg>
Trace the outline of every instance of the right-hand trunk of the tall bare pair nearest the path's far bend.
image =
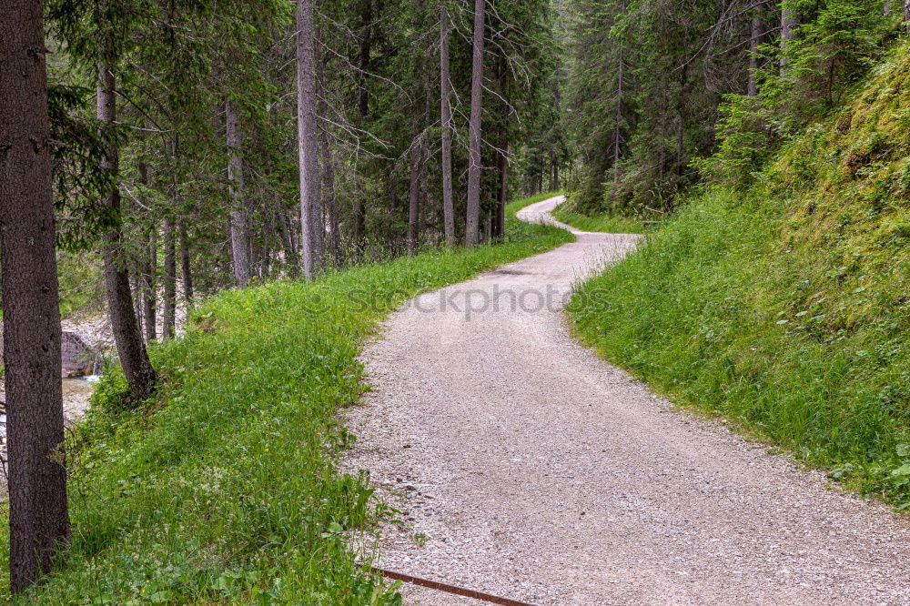
<svg viewBox="0 0 910 606">
<path fill-rule="evenodd" d="M 483 27 L 485 0 L 474 0 L 473 68 L 470 80 L 470 128 L 468 146 L 468 219 L 465 226 L 466 247 L 477 246 L 480 222 L 480 121 L 483 109 Z"/>
</svg>

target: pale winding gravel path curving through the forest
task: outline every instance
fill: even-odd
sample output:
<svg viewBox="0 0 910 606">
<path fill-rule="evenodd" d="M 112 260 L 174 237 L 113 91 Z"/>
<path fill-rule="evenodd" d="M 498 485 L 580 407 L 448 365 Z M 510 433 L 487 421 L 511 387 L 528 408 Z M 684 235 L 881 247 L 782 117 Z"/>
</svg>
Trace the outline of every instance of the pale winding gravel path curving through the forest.
<svg viewBox="0 0 910 606">
<path fill-rule="evenodd" d="M 552 221 L 558 201 L 519 216 Z M 405 522 L 383 527 L 379 565 L 541 605 L 910 604 L 906 519 L 674 411 L 582 348 L 558 300 L 537 308 L 635 241 L 574 233 L 423 296 L 366 348 L 346 464 Z"/>
</svg>

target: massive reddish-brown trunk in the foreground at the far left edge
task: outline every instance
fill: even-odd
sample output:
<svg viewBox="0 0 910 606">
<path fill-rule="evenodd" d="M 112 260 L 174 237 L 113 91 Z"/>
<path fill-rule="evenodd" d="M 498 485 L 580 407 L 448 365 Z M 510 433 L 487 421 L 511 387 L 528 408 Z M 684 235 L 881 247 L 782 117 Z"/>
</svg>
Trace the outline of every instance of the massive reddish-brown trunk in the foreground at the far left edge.
<svg viewBox="0 0 910 606">
<path fill-rule="evenodd" d="M 0 274 L 9 462 L 10 589 L 51 568 L 69 536 L 60 308 L 41 3 L 0 16 Z"/>
</svg>

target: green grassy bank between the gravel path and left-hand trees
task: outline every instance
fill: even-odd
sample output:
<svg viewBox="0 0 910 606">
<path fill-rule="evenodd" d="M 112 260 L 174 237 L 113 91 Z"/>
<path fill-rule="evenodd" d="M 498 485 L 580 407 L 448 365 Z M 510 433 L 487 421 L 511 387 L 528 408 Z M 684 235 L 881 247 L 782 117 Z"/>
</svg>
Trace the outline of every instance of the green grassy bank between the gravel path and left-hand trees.
<svg viewBox="0 0 910 606">
<path fill-rule="evenodd" d="M 107 379 L 68 446 L 66 563 L 28 599 L 394 603 L 346 548 L 383 510 L 337 469 L 354 439 L 337 412 L 365 389 L 359 345 L 389 310 L 571 238 L 515 220 L 524 204 L 498 246 L 225 293 L 153 350 L 162 385 L 141 410 L 117 409 L 122 379 Z"/>
</svg>

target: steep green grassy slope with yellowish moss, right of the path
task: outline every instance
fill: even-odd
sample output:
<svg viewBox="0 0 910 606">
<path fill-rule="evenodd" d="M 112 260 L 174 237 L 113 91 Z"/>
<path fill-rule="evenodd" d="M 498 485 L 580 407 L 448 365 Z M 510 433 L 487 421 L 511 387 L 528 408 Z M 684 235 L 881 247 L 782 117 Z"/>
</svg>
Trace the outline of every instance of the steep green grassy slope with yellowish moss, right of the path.
<svg viewBox="0 0 910 606">
<path fill-rule="evenodd" d="M 908 508 L 908 46 L 760 181 L 693 197 L 585 285 L 605 296 L 575 325 L 678 401 Z"/>
</svg>

